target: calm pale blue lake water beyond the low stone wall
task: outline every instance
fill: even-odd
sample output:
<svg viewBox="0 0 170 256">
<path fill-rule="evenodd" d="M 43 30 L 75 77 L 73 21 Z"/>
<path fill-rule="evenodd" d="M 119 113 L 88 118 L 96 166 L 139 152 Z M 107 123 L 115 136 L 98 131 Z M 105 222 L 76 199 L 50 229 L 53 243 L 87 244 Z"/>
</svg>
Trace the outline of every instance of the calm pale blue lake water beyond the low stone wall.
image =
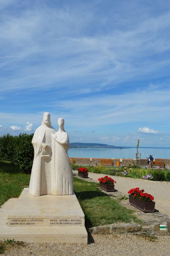
<svg viewBox="0 0 170 256">
<path fill-rule="evenodd" d="M 170 148 L 138 148 L 141 159 L 153 154 L 153 158 L 170 159 Z M 136 159 L 136 148 L 69 148 L 69 157 L 132 158 Z"/>
</svg>

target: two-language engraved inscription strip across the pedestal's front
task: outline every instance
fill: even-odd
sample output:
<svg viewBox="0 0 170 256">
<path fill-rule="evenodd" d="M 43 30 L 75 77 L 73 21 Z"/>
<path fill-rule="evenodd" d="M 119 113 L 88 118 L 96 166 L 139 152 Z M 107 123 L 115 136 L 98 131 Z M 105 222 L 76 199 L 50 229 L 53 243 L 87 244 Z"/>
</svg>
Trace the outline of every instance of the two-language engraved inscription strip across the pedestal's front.
<svg viewBox="0 0 170 256">
<path fill-rule="evenodd" d="M 84 219 L 12 219 L 8 226 L 84 226 Z"/>
</svg>

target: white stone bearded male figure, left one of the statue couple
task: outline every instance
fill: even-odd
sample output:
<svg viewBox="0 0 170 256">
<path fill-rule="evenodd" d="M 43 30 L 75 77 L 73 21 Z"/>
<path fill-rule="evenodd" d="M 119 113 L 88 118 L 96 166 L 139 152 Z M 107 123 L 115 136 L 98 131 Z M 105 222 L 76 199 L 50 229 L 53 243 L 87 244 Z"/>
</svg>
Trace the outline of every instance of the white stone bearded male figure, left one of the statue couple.
<svg viewBox="0 0 170 256">
<path fill-rule="evenodd" d="M 43 122 L 34 133 L 34 161 L 31 172 L 29 194 L 41 196 L 51 194 L 52 170 L 52 134 L 56 130 L 51 126 L 50 114 L 44 113 Z"/>
</svg>

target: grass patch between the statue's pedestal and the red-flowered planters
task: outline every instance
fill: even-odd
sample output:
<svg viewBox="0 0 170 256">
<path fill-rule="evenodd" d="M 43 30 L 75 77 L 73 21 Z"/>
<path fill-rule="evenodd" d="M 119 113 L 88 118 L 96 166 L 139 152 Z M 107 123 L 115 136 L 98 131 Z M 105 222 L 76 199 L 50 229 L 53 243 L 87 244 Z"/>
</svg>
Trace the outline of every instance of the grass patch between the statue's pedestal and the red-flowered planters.
<svg viewBox="0 0 170 256">
<path fill-rule="evenodd" d="M 101 192 L 99 184 L 74 177 L 74 192 L 85 214 L 86 227 L 116 222 L 138 222 L 133 211 L 123 207 L 117 200 Z"/>
</svg>

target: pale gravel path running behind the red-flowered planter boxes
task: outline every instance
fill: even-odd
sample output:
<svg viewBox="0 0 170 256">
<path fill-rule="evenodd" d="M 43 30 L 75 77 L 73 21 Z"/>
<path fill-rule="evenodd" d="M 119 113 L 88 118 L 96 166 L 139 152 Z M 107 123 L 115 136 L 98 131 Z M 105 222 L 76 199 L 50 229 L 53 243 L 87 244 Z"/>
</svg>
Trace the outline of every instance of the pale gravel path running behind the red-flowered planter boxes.
<svg viewBox="0 0 170 256">
<path fill-rule="evenodd" d="M 78 171 L 73 171 L 73 173 L 78 173 Z M 88 173 L 89 178 L 98 182 L 100 177 L 104 177 L 105 174 L 101 173 Z M 160 181 L 146 181 L 138 180 L 133 178 L 125 178 L 119 176 L 112 176 L 117 183 L 115 189 L 121 191 L 123 194 L 128 196 L 128 191 L 131 188 L 139 187 L 144 189 L 146 193 L 151 194 L 154 197 L 155 209 L 161 213 L 170 216 L 170 182 L 160 182 Z M 88 179 L 86 179 L 88 181 Z"/>
</svg>

